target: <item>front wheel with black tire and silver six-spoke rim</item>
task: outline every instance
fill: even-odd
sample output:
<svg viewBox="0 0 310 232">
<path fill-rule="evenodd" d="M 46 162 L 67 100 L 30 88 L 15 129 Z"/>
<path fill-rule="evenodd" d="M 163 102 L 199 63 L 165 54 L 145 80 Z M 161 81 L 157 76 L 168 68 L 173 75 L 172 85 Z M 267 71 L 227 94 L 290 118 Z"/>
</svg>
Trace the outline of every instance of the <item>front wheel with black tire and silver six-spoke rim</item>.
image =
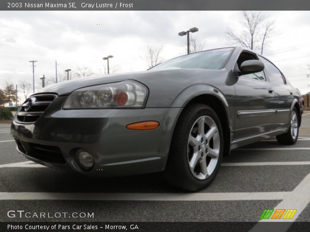
<svg viewBox="0 0 310 232">
<path fill-rule="evenodd" d="M 173 133 L 166 179 L 190 191 L 207 187 L 217 175 L 223 144 L 216 112 L 205 104 L 186 106 Z"/>
</svg>

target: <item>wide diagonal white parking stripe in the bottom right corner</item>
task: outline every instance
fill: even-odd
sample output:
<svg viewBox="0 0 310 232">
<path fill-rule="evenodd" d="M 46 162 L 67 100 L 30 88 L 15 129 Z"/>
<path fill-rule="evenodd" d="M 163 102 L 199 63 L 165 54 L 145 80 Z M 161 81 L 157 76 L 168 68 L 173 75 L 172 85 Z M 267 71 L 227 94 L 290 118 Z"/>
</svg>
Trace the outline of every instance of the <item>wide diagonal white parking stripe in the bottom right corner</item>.
<svg viewBox="0 0 310 232">
<path fill-rule="evenodd" d="M 296 209 L 293 219 L 281 219 L 281 222 L 291 223 L 278 223 L 277 232 L 285 232 L 289 229 L 292 223 L 297 219 L 301 212 L 310 203 L 310 174 L 308 174 L 292 192 L 285 194 L 283 201 L 281 201 L 275 209 Z M 250 232 L 270 231 L 268 228 L 270 224 L 262 222 L 279 222 L 275 219 L 262 219 L 260 223 L 256 224 Z"/>
</svg>

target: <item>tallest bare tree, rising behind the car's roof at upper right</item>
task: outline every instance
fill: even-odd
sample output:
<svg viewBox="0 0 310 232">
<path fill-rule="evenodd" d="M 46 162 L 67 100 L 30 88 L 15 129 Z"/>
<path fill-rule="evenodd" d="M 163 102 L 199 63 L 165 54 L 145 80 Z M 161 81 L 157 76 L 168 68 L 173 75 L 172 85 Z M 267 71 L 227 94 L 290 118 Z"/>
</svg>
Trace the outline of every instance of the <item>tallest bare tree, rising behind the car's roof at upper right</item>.
<svg viewBox="0 0 310 232">
<path fill-rule="evenodd" d="M 261 12 L 242 11 L 240 24 L 243 29 L 239 32 L 232 28 L 225 31 L 226 39 L 252 50 L 260 49 L 261 54 L 269 39 L 277 35 L 275 20 L 266 21 L 266 16 Z"/>
</svg>

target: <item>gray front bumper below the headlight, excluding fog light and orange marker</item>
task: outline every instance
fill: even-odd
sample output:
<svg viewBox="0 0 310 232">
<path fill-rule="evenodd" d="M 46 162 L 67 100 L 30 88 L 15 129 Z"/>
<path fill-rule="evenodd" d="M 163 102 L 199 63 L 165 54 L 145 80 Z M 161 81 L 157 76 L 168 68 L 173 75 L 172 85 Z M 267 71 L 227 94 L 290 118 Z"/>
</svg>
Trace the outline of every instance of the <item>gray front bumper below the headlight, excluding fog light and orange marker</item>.
<svg viewBox="0 0 310 232">
<path fill-rule="evenodd" d="M 56 98 L 33 124 L 13 120 L 11 134 L 27 159 L 96 176 L 164 170 L 182 108 L 63 110 L 65 98 Z M 160 126 L 151 131 L 126 129 L 130 123 L 149 120 Z M 78 166 L 75 151 L 79 148 L 93 155 L 91 171 Z"/>
</svg>

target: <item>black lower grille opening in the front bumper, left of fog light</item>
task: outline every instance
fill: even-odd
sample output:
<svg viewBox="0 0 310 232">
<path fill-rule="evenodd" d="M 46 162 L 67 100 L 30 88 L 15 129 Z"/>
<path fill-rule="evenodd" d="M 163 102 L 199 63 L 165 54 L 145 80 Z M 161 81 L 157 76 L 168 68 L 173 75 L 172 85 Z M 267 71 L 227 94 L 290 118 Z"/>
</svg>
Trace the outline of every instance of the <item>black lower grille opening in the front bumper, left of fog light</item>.
<svg viewBox="0 0 310 232">
<path fill-rule="evenodd" d="M 65 164 L 62 151 L 57 146 L 26 143 L 17 139 L 16 143 L 18 150 L 27 156 L 46 162 Z"/>
</svg>

